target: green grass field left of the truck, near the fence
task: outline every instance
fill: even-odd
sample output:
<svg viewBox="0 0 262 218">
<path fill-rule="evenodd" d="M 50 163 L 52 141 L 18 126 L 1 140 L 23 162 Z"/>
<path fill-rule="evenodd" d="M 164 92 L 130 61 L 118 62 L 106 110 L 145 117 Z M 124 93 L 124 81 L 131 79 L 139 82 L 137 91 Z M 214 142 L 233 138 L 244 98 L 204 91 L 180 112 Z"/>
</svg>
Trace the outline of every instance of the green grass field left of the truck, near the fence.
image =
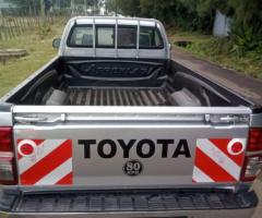
<svg viewBox="0 0 262 218">
<path fill-rule="evenodd" d="M 3 96 L 37 69 L 53 58 L 57 50 L 52 48 L 52 39 L 60 36 L 64 24 L 37 27 L 26 31 L 23 35 L 9 40 L 1 40 L 0 48 L 25 49 L 27 56 L 8 60 L 5 65 L 0 62 L 0 96 Z"/>
</svg>

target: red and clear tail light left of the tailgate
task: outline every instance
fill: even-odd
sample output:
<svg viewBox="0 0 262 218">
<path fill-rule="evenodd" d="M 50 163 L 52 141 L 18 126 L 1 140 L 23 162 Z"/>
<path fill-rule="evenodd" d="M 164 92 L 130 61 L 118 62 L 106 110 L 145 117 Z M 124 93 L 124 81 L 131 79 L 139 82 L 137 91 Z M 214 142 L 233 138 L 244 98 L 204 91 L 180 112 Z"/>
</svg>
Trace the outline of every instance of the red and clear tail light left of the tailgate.
<svg viewBox="0 0 262 218">
<path fill-rule="evenodd" d="M 0 128 L 0 184 L 17 184 L 12 128 Z"/>
</svg>

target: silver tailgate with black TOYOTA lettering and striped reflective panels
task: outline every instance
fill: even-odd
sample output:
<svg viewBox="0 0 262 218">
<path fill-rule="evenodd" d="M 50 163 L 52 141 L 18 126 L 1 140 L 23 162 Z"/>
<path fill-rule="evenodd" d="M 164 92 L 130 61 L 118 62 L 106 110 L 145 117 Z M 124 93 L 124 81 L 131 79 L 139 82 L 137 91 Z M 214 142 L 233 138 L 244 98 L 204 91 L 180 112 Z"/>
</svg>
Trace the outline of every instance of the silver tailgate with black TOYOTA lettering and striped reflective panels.
<svg viewBox="0 0 262 218">
<path fill-rule="evenodd" d="M 90 189 L 236 184 L 249 113 L 240 107 L 15 106 L 20 184 Z"/>
</svg>

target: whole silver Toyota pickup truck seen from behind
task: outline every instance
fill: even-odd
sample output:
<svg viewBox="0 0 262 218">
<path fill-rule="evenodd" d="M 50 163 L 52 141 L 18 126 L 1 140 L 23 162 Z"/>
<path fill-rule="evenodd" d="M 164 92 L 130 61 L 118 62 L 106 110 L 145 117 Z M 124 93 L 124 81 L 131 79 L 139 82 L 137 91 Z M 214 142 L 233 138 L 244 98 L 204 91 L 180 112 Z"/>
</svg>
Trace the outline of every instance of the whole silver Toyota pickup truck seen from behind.
<svg viewBox="0 0 262 218">
<path fill-rule="evenodd" d="M 53 46 L 1 99 L 1 218 L 251 217 L 261 106 L 171 60 L 156 20 L 74 17 Z"/>
</svg>

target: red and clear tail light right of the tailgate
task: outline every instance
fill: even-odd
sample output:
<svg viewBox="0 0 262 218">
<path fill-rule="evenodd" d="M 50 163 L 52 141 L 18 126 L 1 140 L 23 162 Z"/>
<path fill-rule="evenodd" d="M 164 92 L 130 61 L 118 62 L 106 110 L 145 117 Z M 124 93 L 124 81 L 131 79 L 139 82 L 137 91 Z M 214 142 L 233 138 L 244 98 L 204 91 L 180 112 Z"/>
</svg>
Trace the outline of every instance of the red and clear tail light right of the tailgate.
<svg viewBox="0 0 262 218">
<path fill-rule="evenodd" d="M 251 129 L 241 181 L 253 181 L 262 169 L 262 129 Z"/>
</svg>

